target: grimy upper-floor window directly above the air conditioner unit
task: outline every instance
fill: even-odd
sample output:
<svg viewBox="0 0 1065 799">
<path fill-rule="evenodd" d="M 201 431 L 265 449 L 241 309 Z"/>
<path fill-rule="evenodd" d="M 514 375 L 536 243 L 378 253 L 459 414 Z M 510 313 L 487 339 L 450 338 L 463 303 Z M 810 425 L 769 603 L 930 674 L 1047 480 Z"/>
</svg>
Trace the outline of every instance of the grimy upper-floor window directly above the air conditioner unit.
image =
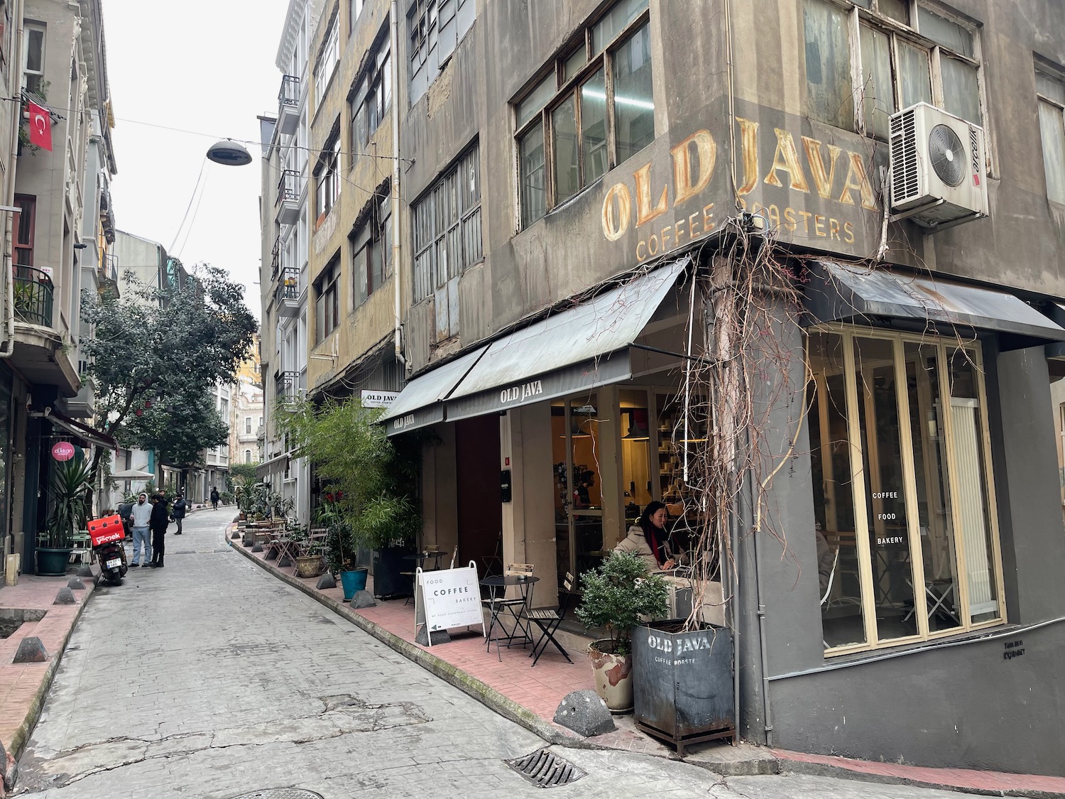
<svg viewBox="0 0 1065 799">
<path fill-rule="evenodd" d="M 887 138 L 891 114 L 928 102 L 983 125 L 969 27 L 916 0 L 853 0 L 850 9 L 804 0 L 803 30 L 812 118 Z"/>
</svg>

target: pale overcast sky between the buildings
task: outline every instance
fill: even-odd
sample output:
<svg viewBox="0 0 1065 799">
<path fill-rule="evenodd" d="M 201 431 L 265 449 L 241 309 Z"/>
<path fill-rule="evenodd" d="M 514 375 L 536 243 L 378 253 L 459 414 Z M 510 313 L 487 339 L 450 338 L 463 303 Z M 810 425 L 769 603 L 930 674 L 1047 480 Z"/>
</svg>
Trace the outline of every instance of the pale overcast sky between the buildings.
<svg viewBox="0 0 1065 799">
<path fill-rule="evenodd" d="M 288 0 L 102 4 L 118 229 L 160 242 L 186 266 L 207 262 L 228 270 L 247 287 L 245 301 L 260 316 L 256 117 L 277 115 L 281 74 L 274 59 Z M 255 161 L 239 167 L 207 161 L 207 148 L 226 137 L 253 142 L 245 146 Z"/>
</svg>

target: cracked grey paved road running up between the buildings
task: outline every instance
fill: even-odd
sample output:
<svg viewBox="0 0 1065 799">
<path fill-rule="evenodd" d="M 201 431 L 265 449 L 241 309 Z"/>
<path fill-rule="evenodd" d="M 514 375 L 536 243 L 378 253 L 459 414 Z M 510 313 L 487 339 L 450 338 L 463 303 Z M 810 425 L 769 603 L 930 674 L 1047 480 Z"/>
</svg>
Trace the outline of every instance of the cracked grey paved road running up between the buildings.
<svg viewBox="0 0 1065 799">
<path fill-rule="evenodd" d="M 167 535 L 164 569 L 100 587 L 21 761 L 39 797 L 537 797 L 504 761 L 544 741 L 229 551 L 232 509 Z M 173 526 L 171 526 L 173 531 Z M 554 748 L 587 772 L 555 799 L 957 799 L 800 777 L 730 778 Z"/>
</svg>

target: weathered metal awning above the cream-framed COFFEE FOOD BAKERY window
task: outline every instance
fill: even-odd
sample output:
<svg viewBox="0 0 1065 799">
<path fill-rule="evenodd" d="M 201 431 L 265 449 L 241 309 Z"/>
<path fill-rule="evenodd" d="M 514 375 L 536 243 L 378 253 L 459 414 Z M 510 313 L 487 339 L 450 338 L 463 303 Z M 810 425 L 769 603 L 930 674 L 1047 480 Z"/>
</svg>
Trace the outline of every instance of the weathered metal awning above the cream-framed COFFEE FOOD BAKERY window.
<svg viewBox="0 0 1065 799">
<path fill-rule="evenodd" d="M 994 289 L 825 260 L 810 263 L 809 278 L 807 324 L 990 330 L 1000 335 L 1002 349 L 1065 341 L 1065 327 L 1013 294 Z"/>
</svg>

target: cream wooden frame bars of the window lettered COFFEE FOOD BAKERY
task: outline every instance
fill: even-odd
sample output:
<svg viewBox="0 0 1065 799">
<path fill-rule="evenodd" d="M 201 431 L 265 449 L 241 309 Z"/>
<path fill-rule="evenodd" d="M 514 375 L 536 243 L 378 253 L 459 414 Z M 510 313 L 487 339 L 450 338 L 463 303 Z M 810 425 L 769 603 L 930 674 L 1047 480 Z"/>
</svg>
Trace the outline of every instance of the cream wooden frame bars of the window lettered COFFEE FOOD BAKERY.
<svg viewBox="0 0 1065 799">
<path fill-rule="evenodd" d="M 958 635 L 965 635 L 972 633 L 974 631 L 983 630 L 985 627 L 1001 626 L 1007 623 L 1006 619 L 1006 607 L 1005 607 L 1005 587 L 1003 581 L 1002 572 L 1002 551 L 1001 551 L 1001 539 L 999 536 L 998 527 L 998 517 L 996 509 L 998 504 L 995 498 L 995 472 L 992 461 L 992 446 L 990 446 L 990 430 L 988 426 L 988 409 L 987 409 L 987 390 L 984 381 L 984 366 L 983 366 L 983 353 L 978 342 L 971 343 L 958 343 L 956 340 L 949 339 L 946 337 L 934 337 L 934 336 L 921 336 L 913 333 L 899 333 L 891 332 L 876 328 L 856 328 L 848 325 L 831 324 L 831 325 L 818 325 L 815 327 L 807 328 L 807 332 L 821 332 L 821 333 L 834 333 L 841 337 L 842 340 L 842 355 L 841 359 L 843 362 L 843 377 L 847 392 L 847 425 L 848 425 L 848 442 L 850 449 L 850 475 L 851 480 L 851 493 L 853 499 L 853 512 L 854 512 L 854 536 L 855 544 L 857 549 L 858 556 L 858 578 L 861 583 L 861 603 L 862 603 L 862 618 L 865 623 L 866 640 L 859 643 L 850 643 L 840 647 L 833 647 L 824 651 L 825 657 L 836 657 L 839 655 L 852 654 L 855 652 L 865 652 L 869 650 L 876 649 L 887 649 L 895 648 L 905 645 L 911 645 L 920 641 L 934 641 L 941 638 L 950 638 Z M 869 542 L 869 523 L 867 517 L 867 498 L 865 490 L 865 478 L 863 475 L 863 449 L 862 449 L 862 431 L 859 415 L 857 410 L 857 385 L 856 385 L 856 369 L 854 365 L 854 338 L 861 339 L 878 339 L 881 341 L 890 341 L 892 345 L 892 359 L 895 364 L 895 385 L 896 385 L 896 406 L 899 419 L 906 420 L 910 419 L 910 397 L 906 390 L 906 377 L 905 377 L 905 356 L 904 356 L 904 344 L 915 343 L 924 346 L 935 346 L 936 347 L 936 358 L 937 362 L 940 364 L 938 369 L 938 381 L 939 381 L 939 396 L 950 397 L 950 370 L 947 368 L 949 363 L 948 356 L 958 352 L 964 350 L 971 359 L 974 364 L 976 380 L 978 388 L 977 402 L 980 409 L 980 454 L 982 456 L 982 467 L 983 467 L 983 489 L 984 489 L 984 502 L 987 508 L 987 525 L 988 532 L 992 537 L 992 552 L 990 557 L 993 562 L 990 564 L 992 578 L 995 581 L 995 591 L 996 591 L 996 606 L 998 610 L 998 617 L 995 619 L 988 619 L 986 621 L 980 621 L 973 623 L 971 621 L 970 614 L 970 603 L 969 603 L 969 578 L 968 572 L 965 569 L 965 541 L 964 535 L 962 533 L 962 521 L 960 518 L 960 500 L 958 492 L 960 487 L 954 475 L 957 473 L 957 463 L 955 462 L 954 454 L 954 428 L 953 420 L 950 413 L 941 413 L 943 417 L 943 427 L 944 427 L 944 461 L 943 468 L 945 469 L 946 486 L 945 490 L 949 499 L 950 506 L 950 521 L 951 521 L 951 537 L 954 544 L 954 570 L 955 570 L 955 581 L 956 581 L 956 602 L 955 607 L 958 612 L 958 617 L 961 623 L 956 627 L 950 627 L 946 630 L 938 630 L 935 632 L 930 632 L 929 621 L 928 621 L 928 603 L 924 601 L 922 591 L 919 591 L 917 587 L 924 585 L 924 561 L 923 561 L 923 544 L 921 542 L 920 535 L 920 521 L 916 512 L 918 500 L 917 500 L 917 476 L 914 469 L 914 451 L 913 451 L 913 440 L 910 436 L 900 435 L 900 459 L 903 469 L 903 485 L 905 490 L 905 503 L 907 507 L 906 513 L 906 525 L 908 533 L 908 545 L 911 553 L 911 561 L 913 565 L 913 581 L 914 581 L 914 604 L 915 604 L 915 616 L 917 618 L 917 634 L 911 635 L 902 638 L 889 638 L 881 640 L 878 637 L 876 631 L 876 609 L 874 605 L 874 591 L 873 591 L 873 572 L 872 572 L 872 552 Z M 808 349 L 806 350 L 808 353 Z M 808 374 L 813 374 L 810 371 L 810 364 L 808 361 L 808 355 L 806 357 L 806 369 Z M 814 377 L 816 380 L 816 375 Z M 818 391 L 821 390 L 820 384 L 818 384 Z M 900 425 L 901 427 L 901 425 Z M 822 421 L 822 429 L 826 429 L 826 426 Z M 810 442 L 813 446 L 813 442 Z"/>
</svg>

